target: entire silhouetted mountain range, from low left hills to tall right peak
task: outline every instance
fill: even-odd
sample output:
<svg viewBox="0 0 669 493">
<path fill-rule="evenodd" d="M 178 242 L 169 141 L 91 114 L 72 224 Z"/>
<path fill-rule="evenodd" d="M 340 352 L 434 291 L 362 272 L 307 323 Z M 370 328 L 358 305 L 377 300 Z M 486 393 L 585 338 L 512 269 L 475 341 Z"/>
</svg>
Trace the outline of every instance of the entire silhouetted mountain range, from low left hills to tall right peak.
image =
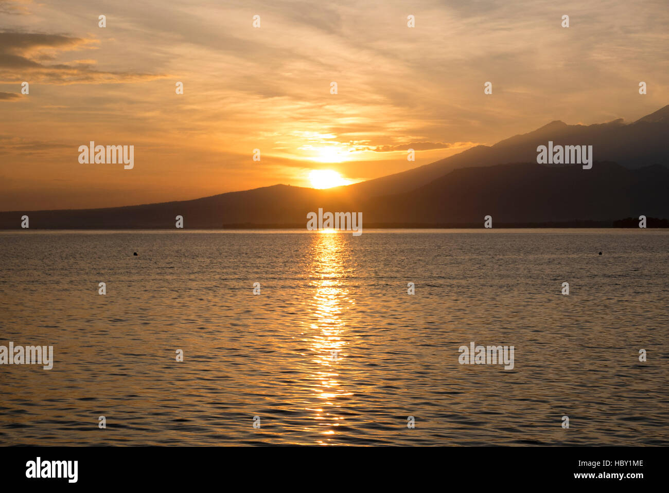
<svg viewBox="0 0 669 493">
<path fill-rule="evenodd" d="M 195 200 L 137 206 L 0 212 L 0 229 L 305 227 L 306 214 L 363 212 L 363 225 L 480 225 L 669 217 L 669 106 L 632 124 L 570 126 L 477 146 L 403 173 L 328 190 L 275 185 Z M 537 146 L 592 145 L 595 162 L 537 164 Z M 608 156 L 608 157 L 607 157 Z M 652 224 L 649 222 L 649 226 Z M 364 227 L 364 226 L 363 226 Z"/>
</svg>

